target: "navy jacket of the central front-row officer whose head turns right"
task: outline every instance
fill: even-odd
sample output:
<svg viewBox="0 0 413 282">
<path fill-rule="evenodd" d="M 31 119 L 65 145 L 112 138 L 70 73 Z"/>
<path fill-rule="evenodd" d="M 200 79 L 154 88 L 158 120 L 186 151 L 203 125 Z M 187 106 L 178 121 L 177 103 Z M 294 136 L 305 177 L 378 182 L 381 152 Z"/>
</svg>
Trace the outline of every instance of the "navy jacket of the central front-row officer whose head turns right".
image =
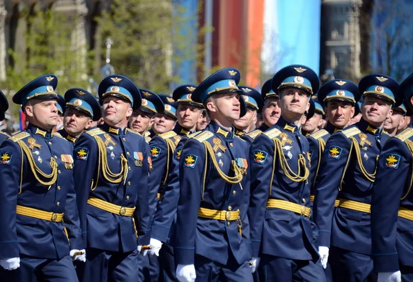
<svg viewBox="0 0 413 282">
<path fill-rule="evenodd" d="M 242 181 L 230 184 L 218 173 L 206 145 L 213 148 L 218 168 L 228 177 L 233 177 L 231 163 L 243 168 Z M 180 154 L 180 199 L 176 222 L 176 263 L 193 264 L 194 255 L 218 263 L 242 264 L 250 259 L 246 240 L 240 234 L 238 221 L 220 221 L 198 217 L 200 208 L 211 210 L 240 210 L 247 205 L 249 185 L 247 168 L 248 144 L 211 123 L 200 134 L 188 139 Z M 243 211 L 240 210 L 243 214 Z M 231 259 L 229 261 L 229 259 Z"/>
</svg>

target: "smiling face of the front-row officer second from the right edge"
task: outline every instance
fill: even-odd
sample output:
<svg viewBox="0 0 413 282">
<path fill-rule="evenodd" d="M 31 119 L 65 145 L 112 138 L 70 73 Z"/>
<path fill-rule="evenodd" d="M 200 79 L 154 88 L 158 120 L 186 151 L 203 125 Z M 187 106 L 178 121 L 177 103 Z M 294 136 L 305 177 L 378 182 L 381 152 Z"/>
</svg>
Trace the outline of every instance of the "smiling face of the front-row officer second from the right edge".
<svg viewBox="0 0 413 282">
<path fill-rule="evenodd" d="M 392 105 L 383 99 L 366 96 L 361 105 L 361 114 L 363 119 L 372 125 L 380 127 L 385 119 L 392 115 Z"/>
</svg>

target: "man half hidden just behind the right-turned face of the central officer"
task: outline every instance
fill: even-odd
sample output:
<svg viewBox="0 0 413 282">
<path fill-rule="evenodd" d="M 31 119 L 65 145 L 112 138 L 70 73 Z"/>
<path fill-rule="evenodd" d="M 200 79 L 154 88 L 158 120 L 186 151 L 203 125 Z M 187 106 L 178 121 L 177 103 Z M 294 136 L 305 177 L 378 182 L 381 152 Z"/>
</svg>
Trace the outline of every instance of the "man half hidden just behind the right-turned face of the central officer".
<svg viewBox="0 0 413 282">
<path fill-rule="evenodd" d="M 246 105 L 246 114 L 234 121 L 235 134 L 251 145 L 254 138 L 261 133 L 261 130 L 250 130 L 250 128 L 252 128 L 251 125 L 254 125 L 254 117 L 262 110 L 264 100 L 261 93 L 254 88 L 248 86 L 239 86 L 238 88 L 243 92 L 242 97 Z"/>
</svg>

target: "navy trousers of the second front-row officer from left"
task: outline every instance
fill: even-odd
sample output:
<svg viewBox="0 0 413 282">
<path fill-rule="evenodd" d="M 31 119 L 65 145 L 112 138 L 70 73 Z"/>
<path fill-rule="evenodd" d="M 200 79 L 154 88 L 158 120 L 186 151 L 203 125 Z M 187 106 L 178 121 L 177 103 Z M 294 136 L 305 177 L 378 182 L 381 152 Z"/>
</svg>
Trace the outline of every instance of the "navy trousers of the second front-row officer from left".
<svg viewBox="0 0 413 282">
<path fill-rule="evenodd" d="M 85 273 L 81 282 L 137 282 L 138 250 L 110 252 L 95 248 L 86 250 Z"/>
</svg>

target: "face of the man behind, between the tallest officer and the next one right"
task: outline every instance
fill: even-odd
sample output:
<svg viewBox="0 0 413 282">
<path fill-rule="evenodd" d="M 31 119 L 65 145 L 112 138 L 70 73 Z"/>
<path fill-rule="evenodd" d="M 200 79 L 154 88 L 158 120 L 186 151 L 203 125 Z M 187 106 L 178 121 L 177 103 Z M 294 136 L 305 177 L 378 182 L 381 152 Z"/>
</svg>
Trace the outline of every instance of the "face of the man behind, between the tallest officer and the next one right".
<svg viewBox="0 0 413 282">
<path fill-rule="evenodd" d="M 351 102 L 330 100 L 327 101 L 327 120 L 336 128 L 345 128 L 354 115 L 354 106 Z"/>
</svg>

